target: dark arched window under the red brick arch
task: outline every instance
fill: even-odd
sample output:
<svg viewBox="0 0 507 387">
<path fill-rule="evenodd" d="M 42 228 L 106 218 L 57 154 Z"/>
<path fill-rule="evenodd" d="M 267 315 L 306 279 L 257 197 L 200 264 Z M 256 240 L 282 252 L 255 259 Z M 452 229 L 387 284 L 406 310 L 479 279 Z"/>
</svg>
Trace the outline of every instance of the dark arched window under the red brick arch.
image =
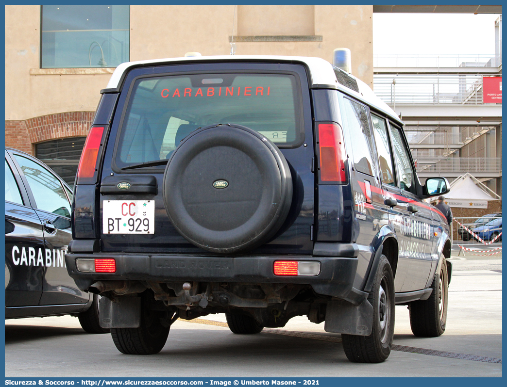
<svg viewBox="0 0 507 387">
<path fill-rule="evenodd" d="M 85 141 L 86 137 L 69 137 L 41 142 L 35 145 L 35 157 L 73 187 Z"/>
</svg>

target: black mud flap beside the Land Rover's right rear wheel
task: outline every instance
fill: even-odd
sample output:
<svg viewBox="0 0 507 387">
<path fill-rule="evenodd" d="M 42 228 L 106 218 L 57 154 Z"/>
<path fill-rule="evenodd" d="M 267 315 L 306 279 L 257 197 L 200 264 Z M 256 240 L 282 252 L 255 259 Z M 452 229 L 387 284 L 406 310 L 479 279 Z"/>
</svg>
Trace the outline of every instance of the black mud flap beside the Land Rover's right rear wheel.
<svg viewBox="0 0 507 387">
<path fill-rule="evenodd" d="M 359 305 L 330 301 L 325 311 L 326 332 L 369 336 L 372 333 L 373 306 L 365 299 Z"/>
</svg>

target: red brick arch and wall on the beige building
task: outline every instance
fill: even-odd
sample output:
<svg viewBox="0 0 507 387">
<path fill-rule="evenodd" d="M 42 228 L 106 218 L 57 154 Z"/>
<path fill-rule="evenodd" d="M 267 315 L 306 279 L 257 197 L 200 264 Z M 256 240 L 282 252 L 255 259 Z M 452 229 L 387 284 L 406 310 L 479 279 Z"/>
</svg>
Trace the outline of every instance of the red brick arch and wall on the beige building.
<svg viewBox="0 0 507 387">
<path fill-rule="evenodd" d="M 5 146 L 34 154 L 34 144 L 64 137 L 86 136 L 93 111 L 70 111 L 5 122 Z"/>
</svg>

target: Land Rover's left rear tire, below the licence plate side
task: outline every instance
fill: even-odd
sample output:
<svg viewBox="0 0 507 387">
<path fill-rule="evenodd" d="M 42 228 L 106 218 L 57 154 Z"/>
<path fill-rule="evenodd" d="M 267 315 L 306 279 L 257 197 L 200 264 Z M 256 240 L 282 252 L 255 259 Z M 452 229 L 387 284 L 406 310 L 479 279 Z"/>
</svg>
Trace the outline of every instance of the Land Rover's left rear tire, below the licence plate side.
<svg viewBox="0 0 507 387">
<path fill-rule="evenodd" d="M 166 313 L 150 310 L 144 301 L 141 300 L 141 323 L 138 328 L 111 328 L 113 341 L 122 354 L 158 354 L 167 341 L 170 325 L 163 323 Z"/>
</svg>

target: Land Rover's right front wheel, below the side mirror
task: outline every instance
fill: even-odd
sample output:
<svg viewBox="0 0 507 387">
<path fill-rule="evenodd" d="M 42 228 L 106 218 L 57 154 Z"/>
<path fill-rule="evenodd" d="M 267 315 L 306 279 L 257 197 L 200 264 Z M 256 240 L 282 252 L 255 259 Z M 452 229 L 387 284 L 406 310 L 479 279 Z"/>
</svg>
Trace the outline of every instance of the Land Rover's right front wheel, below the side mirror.
<svg viewBox="0 0 507 387">
<path fill-rule="evenodd" d="M 419 337 L 438 337 L 445 331 L 448 295 L 445 260 L 442 262 L 439 272 L 435 274 L 431 289 L 431 295 L 427 300 L 409 303 L 410 327 L 412 333 Z"/>
</svg>

